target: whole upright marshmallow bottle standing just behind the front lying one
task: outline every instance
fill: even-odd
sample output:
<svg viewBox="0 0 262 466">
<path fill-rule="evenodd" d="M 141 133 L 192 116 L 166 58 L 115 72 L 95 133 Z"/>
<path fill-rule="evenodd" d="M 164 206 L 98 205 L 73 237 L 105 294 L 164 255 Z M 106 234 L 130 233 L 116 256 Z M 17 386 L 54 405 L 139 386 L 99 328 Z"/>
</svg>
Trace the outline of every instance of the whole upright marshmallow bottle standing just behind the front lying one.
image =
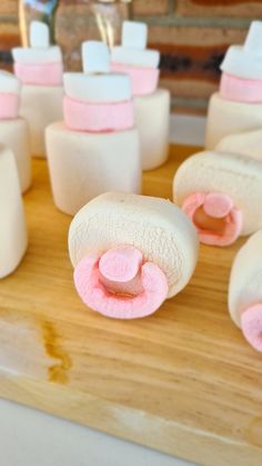
<svg viewBox="0 0 262 466">
<path fill-rule="evenodd" d="M 82 61 L 84 72 L 64 73 L 64 121 L 47 128 L 54 204 L 69 215 L 108 190 L 141 190 L 130 78 L 110 72 L 103 42 L 84 42 Z"/>
</svg>

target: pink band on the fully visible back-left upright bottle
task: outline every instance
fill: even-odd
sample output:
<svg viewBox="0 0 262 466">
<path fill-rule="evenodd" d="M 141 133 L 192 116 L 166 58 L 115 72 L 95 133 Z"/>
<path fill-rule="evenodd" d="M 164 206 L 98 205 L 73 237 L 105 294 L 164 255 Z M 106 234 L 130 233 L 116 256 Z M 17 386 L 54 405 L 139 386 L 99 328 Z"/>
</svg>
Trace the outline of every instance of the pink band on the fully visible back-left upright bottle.
<svg viewBox="0 0 262 466">
<path fill-rule="evenodd" d="M 23 85 L 36 86 L 61 86 L 63 67 L 62 63 L 14 63 L 14 75 Z"/>
</svg>

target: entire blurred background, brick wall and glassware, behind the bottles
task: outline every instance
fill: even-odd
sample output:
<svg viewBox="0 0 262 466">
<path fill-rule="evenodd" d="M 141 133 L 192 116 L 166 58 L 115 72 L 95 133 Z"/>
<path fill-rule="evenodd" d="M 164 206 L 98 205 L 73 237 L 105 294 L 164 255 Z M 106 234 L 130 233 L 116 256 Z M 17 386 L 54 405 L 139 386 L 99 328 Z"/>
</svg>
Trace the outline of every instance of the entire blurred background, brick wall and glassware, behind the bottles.
<svg viewBox="0 0 262 466">
<path fill-rule="evenodd" d="M 149 47 L 159 49 L 161 86 L 172 92 L 172 109 L 204 115 L 218 88 L 219 65 L 231 43 L 241 43 L 252 19 L 262 18 L 254 0 L 0 0 L 0 67 L 12 68 L 10 48 L 27 42 L 27 22 L 51 24 L 66 68 L 81 67 L 79 46 L 88 38 L 119 42 L 121 20 L 149 24 Z"/>
</svg>

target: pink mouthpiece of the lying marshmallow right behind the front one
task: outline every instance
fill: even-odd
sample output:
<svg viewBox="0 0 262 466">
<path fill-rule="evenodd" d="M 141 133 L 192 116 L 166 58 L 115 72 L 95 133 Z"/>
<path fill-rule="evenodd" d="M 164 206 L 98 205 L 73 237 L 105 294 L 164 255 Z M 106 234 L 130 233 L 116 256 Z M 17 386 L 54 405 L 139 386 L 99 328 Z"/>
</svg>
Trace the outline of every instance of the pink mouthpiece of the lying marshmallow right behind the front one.
<svg viewBox="0 0 262 466">
<path fill-rule="evenodd" d="M 194 224 L 199 239 L 204 245 L 229 246 L 241 234 L 242 212 L 233 206 L 229 196 L 195 192 L 185 199 L 182 209 Z"/>
</svg>

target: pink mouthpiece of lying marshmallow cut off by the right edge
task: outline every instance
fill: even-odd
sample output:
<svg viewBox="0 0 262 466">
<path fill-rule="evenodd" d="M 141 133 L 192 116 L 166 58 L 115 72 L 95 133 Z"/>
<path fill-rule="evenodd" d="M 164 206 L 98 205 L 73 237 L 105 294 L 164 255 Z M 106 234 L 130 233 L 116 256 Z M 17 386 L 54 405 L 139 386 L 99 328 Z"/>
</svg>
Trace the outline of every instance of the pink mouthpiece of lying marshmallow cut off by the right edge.
<svg viewBox="0 0 262 466">
<path fill-rule="evenodd" d="M 241 328 L 249 344 L 262 351 L 262 304 L 249 307 L 241 315 Z"/>
</svg>

